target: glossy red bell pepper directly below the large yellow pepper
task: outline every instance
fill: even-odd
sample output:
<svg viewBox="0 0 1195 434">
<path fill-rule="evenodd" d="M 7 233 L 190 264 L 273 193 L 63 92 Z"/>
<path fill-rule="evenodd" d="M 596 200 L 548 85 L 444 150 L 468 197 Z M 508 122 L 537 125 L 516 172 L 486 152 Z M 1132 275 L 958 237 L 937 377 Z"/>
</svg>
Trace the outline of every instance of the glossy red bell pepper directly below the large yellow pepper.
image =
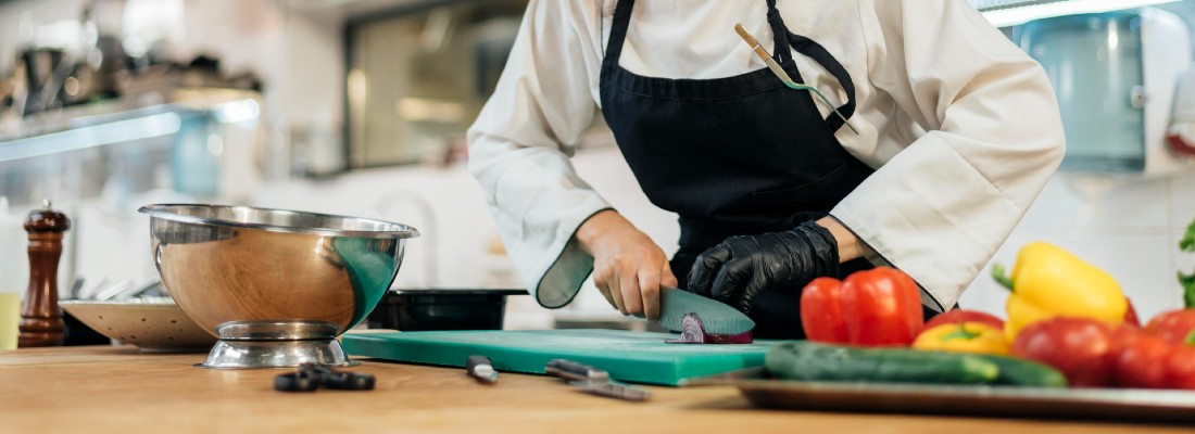
<svg viewBox="0 0 1195 434">
<path fill-rule="evenodd" d="M 1053 317 L 1022 329 L 1012 341 L 1012 355 L 1053 366 L 1072 386 L 1107 388 L 1116 384 L 1119 346 L 1104 322 Z"/>
</svg>

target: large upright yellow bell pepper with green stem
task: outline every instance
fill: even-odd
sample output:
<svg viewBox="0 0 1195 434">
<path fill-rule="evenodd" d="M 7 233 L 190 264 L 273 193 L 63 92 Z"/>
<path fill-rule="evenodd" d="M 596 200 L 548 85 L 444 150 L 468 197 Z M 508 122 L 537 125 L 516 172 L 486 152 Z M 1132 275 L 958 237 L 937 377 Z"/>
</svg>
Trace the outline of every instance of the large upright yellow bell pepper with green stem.
<svg viewBox="0 0 1195 434">
<path fill-rule="evenodd" d="M 1116 326 L 1124 321 L 1128 299 L 1116 279 L 1071 253 L 1044 242 L 1025 244 L 1017 253 L 1012 278 L 1004 266 L 992 275 L 1012 291 L 1005 305 L 1004 333 L 1011 341 L 1034 322 L 1055 316 L 1083 317 Z"/>
</svg>

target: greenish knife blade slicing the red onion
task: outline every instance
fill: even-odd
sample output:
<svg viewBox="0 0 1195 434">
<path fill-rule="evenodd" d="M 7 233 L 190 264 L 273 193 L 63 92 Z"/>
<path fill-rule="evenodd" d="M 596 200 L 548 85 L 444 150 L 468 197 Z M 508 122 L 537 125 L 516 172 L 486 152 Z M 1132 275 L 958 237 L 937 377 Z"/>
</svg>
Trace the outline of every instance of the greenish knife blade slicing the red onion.
<svg viewBox="0 0 1195 434">
<path fill-rule="evenodd" d="M 705 330 L 711 334 L 737 335 L 750 331 L 755 322 L 739 309 L 695 293 L 662 286 L 660 289 L 660 326 L 681 331 L 685 314 L 697 314 Z"/>
</svg>

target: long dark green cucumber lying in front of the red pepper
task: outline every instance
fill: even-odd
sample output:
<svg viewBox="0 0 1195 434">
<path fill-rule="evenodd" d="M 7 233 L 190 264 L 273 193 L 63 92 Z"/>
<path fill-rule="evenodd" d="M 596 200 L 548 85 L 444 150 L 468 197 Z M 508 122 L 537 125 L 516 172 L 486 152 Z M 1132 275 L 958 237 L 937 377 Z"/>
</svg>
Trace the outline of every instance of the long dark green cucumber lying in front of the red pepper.
<svg viewBox="0 0 1195 434">
<path fill-rule="evenodd" d="M 809 341 L 777 343 L 764 364 L 774 377 L 814 382 L 983 384 L 1000 374 L 995 362 L 974 354 Z"/>
</svg>

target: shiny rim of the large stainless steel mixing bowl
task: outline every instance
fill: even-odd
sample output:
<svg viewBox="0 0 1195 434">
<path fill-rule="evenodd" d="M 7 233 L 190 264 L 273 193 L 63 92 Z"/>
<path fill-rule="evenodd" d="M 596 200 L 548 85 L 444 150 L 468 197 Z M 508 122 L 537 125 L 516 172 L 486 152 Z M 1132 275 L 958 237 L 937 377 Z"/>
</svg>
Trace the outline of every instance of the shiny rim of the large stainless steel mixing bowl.
<svg viewBox="0 0 1195 434">
<path fill-rule="evenodd" d="M 373 224 L 381 224 L 384 227 L 392 227 L 398 229 L 391 230 L 345 230 L 345 229 L 330 229 L 330 228 L 304 228 L 304 227 L 287 227 L 280 224 L 265 224 L 265 223 L 249 223 L 249 222 L 235 222 L 225 218 L 212 218 L 212 217 L 198 217 L 198 216 L 185 216 L 177 212 L 170 211 L 172 207 L 190 207 L 190 209 L 229 209 L 229 210 L 251 210 L 251 211 L 266 211 L 272 213 L 289 213 L 289 215 L 307 215 L 323 218 L 341 218 L 347 221 L 368 222 Z M 216 227 L 233 227 L 233 228 L 245 228 L 245 229 L 259 229 L 272 232 L 288 232 L 288 234 L 311 234 L 311 235 L 327 235 L 327 236 L 353 236 L 363 238 L 413 238 L 419 236 L 419 231 L 412 227 L 402 223 L 387 222 L 376 218 L 364 218 L 364 217 L 350 217 L 339 216 L 331 213 L 320 212 L 307 212 L 307 211 L 294 211 L 294 210 L 282 210 L 261 206 L 247 206 L 247 205 L 215 205 L 215 204 L 149 204 L 137 209 L 137 212 L 148 215 L 153 218 L 161 218 L 179 223 L 192 223 L 203 225 L 216 225 Z"/>
</svg>

